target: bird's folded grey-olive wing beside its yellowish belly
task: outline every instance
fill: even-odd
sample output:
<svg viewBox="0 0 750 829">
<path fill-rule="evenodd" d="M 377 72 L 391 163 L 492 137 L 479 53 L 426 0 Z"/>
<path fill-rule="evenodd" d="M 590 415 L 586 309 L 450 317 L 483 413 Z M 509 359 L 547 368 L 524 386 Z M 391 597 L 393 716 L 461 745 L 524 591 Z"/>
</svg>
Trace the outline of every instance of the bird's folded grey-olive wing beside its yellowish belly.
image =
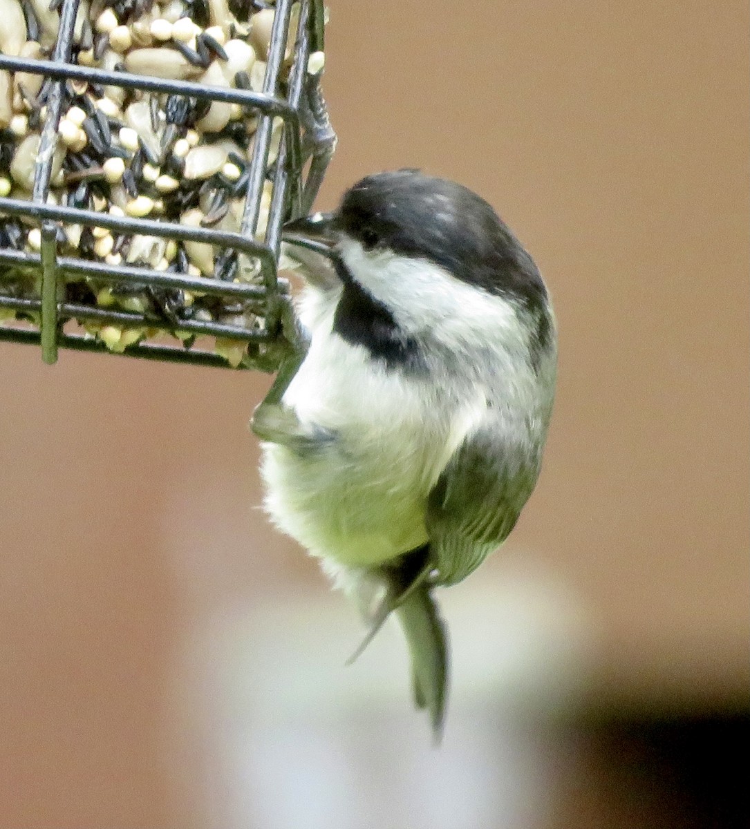
<svg viewBox="0 0 750 829">
<path fill-rule="evenodd" d="M 455 584 L 508 536 L 539 473 L 539 453 L 524 436 L 509 441 L 487 410 L 450 458 L 427 501 L 433 582 Z"/>
</svg>

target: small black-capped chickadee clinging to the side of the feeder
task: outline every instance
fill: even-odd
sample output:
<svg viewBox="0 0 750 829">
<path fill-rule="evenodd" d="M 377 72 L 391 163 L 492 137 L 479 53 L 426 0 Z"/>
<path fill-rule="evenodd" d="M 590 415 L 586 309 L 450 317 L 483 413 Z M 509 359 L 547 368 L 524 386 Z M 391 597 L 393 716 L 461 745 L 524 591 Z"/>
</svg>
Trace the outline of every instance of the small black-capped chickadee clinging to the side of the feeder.
<svg viewBox="0 0 750 829">
<path fill-rule="evenodd" d="M 440 739 L 448 642 L 433 592 L 505 540 L 537 482 L 550 299 L 486 201 L 412 169 L 363 178 L 284 239 L 306 284 L 300 346 L 251 421 L 265 508 L 363 608 L 362 647 L 396 613 Z"/>
</svg>

